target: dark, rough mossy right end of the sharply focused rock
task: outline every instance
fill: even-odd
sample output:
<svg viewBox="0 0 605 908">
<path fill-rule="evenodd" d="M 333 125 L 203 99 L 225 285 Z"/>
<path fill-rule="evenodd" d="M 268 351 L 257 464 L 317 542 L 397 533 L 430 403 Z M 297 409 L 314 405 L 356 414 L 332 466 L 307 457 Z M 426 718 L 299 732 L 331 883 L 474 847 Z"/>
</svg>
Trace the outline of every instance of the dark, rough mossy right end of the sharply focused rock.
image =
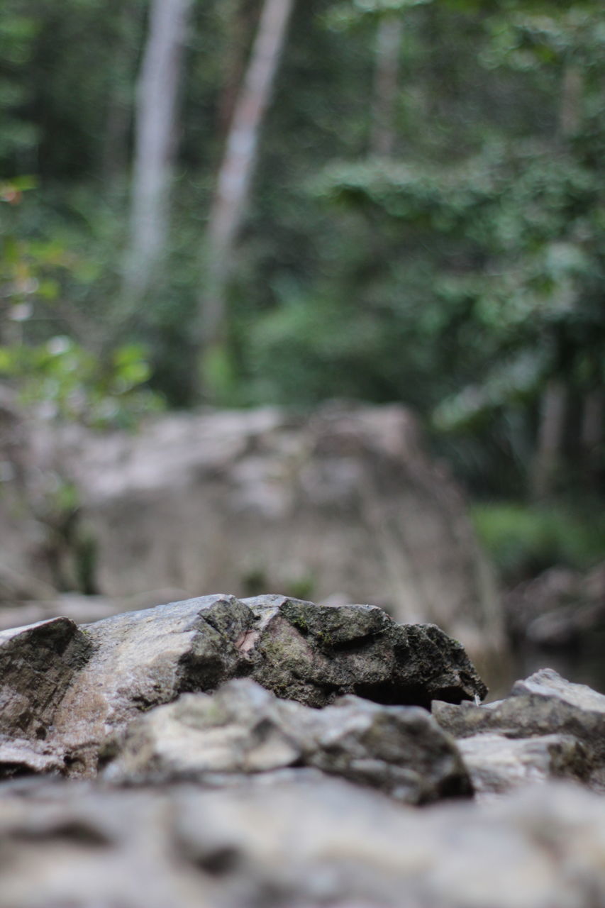
<svg viewBox="0 0 605 908">
<path fill-rule="evenodd" d="M 280 596 L 243 600 L 258 619 L 253 677 L 278 696 L 326 706 L 342 694 L 377 703 L 460 703 L 487 694 L 464 648 L 434 625 L 398 625 L 373 606 L 317 607 Z"/>
</svg>

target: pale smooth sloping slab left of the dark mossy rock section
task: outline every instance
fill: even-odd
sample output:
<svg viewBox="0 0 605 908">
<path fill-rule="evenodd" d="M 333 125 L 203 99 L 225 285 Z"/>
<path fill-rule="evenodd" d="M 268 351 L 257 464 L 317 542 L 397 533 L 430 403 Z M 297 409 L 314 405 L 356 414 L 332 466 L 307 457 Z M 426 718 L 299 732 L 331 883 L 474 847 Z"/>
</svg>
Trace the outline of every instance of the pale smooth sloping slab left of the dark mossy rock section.
<svg viewBox="0 0 605 908">
<path fill-rule="evenodd" d="M 252 623 L 242 602 L 207 596 L 84 625 L 94 653 L 55 715 L 72 775 L 94 773 L 106 735 L 141 711 L 246 674 L 238 644 Z"/>
</svg>

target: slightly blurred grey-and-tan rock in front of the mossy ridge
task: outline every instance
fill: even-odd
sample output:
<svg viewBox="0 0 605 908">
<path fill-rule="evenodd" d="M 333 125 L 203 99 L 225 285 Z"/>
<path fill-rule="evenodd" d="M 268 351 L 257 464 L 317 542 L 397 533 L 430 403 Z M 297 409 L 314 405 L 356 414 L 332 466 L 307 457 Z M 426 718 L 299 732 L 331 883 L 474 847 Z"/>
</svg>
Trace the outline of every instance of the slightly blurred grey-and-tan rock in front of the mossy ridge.
<svg viewBox="0 0 605 908">
<path fill-rule="evenodd" d="M 471 795 L 456 746 L 424 709 L 347 696 L 316 710 L 279 700 L 250 679 L 160 706 L 108 750 L 114 759 L 104 779 L 121 784 L 309 766 L 408 804 Z"/>
</svg>

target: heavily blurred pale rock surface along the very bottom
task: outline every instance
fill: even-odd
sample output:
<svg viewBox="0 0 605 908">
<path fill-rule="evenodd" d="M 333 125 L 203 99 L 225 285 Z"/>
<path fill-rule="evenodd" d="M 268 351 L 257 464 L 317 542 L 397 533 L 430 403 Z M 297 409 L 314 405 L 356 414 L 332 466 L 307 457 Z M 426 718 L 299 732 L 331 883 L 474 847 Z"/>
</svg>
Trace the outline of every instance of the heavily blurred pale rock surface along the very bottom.
<svg viewBox="0 0 605 908">
<path fill-rule="evenodd" d="M 0 908 L 596 908 L 605 801 L 541 785 L 418 809 L 336 779 L 5 787 Z"/>
</svg>

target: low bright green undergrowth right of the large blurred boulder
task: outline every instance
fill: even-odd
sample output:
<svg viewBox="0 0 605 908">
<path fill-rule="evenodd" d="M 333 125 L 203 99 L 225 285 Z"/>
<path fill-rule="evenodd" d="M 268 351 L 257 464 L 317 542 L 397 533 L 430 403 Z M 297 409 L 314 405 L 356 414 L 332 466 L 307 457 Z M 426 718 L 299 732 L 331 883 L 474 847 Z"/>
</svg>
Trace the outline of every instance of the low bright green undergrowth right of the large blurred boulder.
<svg viewBox="0 0 605 908">
<path fill-rule="evenodd" d="M 586 570 L 605 551 L 605 519 L 563 505 L 477 504 L 472 518 L 481 544 L 507 584 L 552 565 Z"/>
</svg>

